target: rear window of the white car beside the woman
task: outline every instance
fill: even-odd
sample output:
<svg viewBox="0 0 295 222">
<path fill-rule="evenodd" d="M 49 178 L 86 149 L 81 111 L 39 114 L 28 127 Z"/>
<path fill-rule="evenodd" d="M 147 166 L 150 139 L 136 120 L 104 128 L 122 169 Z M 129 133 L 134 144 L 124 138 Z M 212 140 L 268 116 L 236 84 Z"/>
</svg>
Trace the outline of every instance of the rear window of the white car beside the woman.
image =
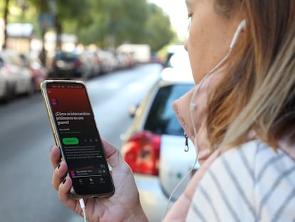
<svg viewBox="0 0 295 222">
<path fill-rule="evenodd" d="M 145 122 L 145 130 L 157 134 L 183 136 L 184 131 L 172 110 L 172 102 L 192 87 L 193 84 L 175 84 L 161 87 L 152 103 Z"/>
</svg>

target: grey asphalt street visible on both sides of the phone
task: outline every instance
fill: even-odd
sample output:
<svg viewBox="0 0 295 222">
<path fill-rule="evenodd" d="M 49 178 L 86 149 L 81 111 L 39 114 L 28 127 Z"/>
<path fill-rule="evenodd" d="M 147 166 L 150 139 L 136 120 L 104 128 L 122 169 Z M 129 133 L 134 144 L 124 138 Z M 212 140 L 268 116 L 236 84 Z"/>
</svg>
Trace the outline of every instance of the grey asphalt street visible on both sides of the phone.
<svg viewBox="0 0 295 222">
<path fill-rule="evenodd" d="M 143 99 L 159 72 L 160 65 L 147 64 L 87 81 L 103 138 L 120 148 L 120 134 L 132 122 L 128 107 Z M 0 104 L 0 122 L 0 221 L 83 221 L 51 186 L 54 141 L 41 94 Z"/>
</svg>

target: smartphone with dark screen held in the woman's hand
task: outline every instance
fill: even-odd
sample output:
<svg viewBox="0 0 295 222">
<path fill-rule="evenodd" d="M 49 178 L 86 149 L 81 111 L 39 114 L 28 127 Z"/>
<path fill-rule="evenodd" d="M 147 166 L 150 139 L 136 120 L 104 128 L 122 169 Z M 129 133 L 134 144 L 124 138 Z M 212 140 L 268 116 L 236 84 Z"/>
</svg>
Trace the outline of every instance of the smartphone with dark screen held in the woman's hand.
<svg viewBox="0 0 295 222">
<path fill-rule="evenodd" d="M 112 196 L 115 188 L 83 81 L 45 80 L 41 93 L 54 140 L 68 164 L 73 198 Z"/>
</svg>

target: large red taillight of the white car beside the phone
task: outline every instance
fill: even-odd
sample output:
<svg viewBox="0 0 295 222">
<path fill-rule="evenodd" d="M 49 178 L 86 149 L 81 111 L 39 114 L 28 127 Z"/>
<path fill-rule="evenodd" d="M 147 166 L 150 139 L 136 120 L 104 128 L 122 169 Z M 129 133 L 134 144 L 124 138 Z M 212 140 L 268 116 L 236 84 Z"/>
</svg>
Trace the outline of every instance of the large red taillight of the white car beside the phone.
<svg viewBox="0 0 295 222">
<path fill-rule="evenodd" d="M 160 158 L 159 135 L 143 131 L 136 133 L 123 147 L 125 161 L 134 173 L 157 176 Z"/>
</svg>

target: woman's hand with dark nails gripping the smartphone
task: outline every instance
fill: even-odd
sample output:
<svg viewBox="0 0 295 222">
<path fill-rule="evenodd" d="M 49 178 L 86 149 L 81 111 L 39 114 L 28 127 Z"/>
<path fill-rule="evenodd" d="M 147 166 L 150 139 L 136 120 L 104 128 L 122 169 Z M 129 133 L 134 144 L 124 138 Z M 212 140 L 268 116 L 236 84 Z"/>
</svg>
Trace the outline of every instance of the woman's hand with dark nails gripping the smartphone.
<svg viewBox="0 0 295 222">
<path fill-rule="evenodd" d="M 92 218 L 92 221 L 148 221 L 140 205 L 133 171 L 115 146 L 108 141 L 102 141 L 105 157 L 113 168 L 115 193 L 110 198 L 93 198 L 86 201 L 87 216 Z M 71 193 L 69 193 L 71 181 L 68 180 L 68 177 L 63 180 L 67 171 L 66 164 L 61 164 L 60 168 L 56 170 L 60 158 L 60 149 L 53 146 L 51 148 L 51 163 L 55 169 L 52 176 L 53 187 L 58 191 L 60 200 L 72 211 L 81 215 L 81 208 L 77 207 L 79 201 L 71 198 Z"/>
</svg>

